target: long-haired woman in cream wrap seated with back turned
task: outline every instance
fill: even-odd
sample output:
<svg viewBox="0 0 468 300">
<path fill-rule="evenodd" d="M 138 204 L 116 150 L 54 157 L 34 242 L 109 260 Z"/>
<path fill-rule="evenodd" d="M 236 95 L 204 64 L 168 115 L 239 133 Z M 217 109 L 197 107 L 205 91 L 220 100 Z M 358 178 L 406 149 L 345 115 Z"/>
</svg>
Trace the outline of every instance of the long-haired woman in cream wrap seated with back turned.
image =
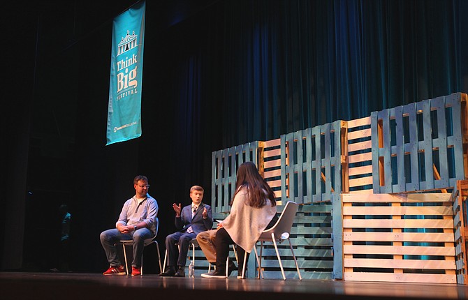
<svg viewBox="0 0 468 300">
<path fill-rule="evenodd" d="M 275 192 L 258 174 L 254 163 L 247 162 L 237 170 L 235 194 L 231 201 L 231 213 L 219 223 L 216 233 L 216 269 L 203 273 L 205 278 L 225 278 L 226 259 L 229 245 L 237 244 L 239 260 L 239 275 L 242 274 L 242 262 L 245 252 L 250 253 L 260 234 L 267 227 L 275 224 L 276 201 Z M 274 219 L 275 218 L 275 219 Z M 228 270 L 231 273 L 231 269 Z M 237 276 L 239 277 L 239 276 Z"/>
</svg>

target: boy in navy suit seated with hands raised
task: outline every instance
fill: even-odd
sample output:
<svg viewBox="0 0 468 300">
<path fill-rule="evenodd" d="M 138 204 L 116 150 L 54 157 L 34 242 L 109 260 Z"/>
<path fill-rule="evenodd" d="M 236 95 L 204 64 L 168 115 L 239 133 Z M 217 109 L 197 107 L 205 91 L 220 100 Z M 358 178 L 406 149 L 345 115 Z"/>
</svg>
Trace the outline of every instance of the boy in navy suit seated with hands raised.
<svg viewBox="0 0 468 300">
<path fill-rule="evenodd" d="M 210 230 L 213 226 L 211 207 L 202 202 L 203 192 L 201 186 L 192 186 L 190 188 L 191 205 L 181 209 L 180 203 L 179 205 L 173 204 L 175 227 L 178 231 L 166 237 L 168 269 L 161 273 L 161 276 L 185 277 L 190 241 L 195 239 L 200 232 Z"/>
</svg>

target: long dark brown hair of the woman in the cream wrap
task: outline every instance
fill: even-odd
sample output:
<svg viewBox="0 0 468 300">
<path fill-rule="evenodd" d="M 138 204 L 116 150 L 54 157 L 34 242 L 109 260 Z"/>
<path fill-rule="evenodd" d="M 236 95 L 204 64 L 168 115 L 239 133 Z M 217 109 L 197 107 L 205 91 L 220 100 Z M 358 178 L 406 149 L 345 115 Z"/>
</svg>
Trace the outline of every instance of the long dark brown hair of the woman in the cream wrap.
<svg viewBox="0 0 468 300">
<path fill-rule="evenodd" d="M 247 188 L 247 195 L 249 196 L 247 205 L 249 207 L 264 207 L 267 204 L 266 198 L 270 199 L 272 207 L 276 206 L 275 192 L 268 186 L 265 179 L 258 174 L 254 163 L 247 162 L 239 166 L 235 182 L 235 194 L 231 200 L 231 205 L 233 204 L 235 195 L 239 193 L 241 186 Z"/>
</svg>

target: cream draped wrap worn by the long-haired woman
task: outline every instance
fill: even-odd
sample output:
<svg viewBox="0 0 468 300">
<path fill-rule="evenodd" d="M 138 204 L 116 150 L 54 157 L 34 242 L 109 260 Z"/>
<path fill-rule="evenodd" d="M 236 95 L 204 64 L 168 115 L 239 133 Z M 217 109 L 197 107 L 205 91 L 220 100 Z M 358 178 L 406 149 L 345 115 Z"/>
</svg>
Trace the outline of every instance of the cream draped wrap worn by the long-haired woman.
<svg viewBox="0 0 468 300">
<path fill-rule="evenodd" d="M 247 253 L 251 253 L 260 234 L 276 215 L 276 207 L 271 206 L 267 199 L 264 207 L 249 207 L 247 202 L 247 188 L 242 186 L 235 195 L 231 213 L 223 221 L 223 227 L 233 241 Z"/>
</svg>

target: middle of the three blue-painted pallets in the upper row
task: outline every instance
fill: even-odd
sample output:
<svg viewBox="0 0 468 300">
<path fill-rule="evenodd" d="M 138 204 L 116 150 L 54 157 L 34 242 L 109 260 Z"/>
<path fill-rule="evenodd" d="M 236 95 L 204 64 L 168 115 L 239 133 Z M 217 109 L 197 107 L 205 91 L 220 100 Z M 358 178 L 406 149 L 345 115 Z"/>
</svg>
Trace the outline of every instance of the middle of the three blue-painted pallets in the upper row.
<svg viewBox="0 0 468 300">
<path fill-rule="evenodd" d="M 281 135 L 281 200 L 330 201 L 342 190 L 343 121 Z"/>
</svg>

